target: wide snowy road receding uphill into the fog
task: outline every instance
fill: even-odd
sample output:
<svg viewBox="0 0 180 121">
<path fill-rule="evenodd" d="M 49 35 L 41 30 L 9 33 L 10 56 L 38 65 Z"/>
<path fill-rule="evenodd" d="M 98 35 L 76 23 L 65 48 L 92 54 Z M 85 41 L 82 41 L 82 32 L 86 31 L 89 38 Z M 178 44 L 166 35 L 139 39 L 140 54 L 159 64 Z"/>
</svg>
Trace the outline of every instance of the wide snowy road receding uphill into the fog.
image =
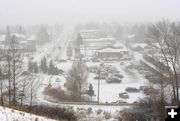
<svg viewBox="0 0 180 121">
<path fill-rule="evenodd" d="M 67 25 L 63 28 L 59 38 L 40 46 L 34 54 L 34 61 L 40 62 L 46 56 L 48 59 L 58 60 L 66 58 L 66 48 L 74 34 L 73 25 Z"/>
</svg>

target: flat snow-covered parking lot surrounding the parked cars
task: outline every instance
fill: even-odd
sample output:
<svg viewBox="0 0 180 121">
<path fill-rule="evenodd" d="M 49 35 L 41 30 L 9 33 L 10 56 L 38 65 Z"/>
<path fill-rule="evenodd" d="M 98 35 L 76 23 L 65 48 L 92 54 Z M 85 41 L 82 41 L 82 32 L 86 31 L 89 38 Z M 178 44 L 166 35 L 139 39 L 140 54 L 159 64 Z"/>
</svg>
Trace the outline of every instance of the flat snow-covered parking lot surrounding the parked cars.
<svg viewBox="0 0 180 121">
<path fill-rule="evenodd" d="M 109 84 L 105 80 L 100 80 L 100 101 L 101 102 L 115 102 L 117 100 L 123 100 L 128 103 L 133 103 L 134 101 L 138 101 L 139 99 L 144 98 L 144 94 L 142 92 L 138 93 L 128 93 L 129 99 L 121 99 L 119 98 L 119 93 L 125 92 L 127 87 L 135 87 L 139 88 L 140 86 L 148 85 L 148 80 L 145 79 L 144 76 L 139 74 L 136 70 L 131 71 L 129 74 L 126 71 L 126 64 L 120 65 L 119 62 L 115 63 L 104 63 L 105 65 L 112 65 L 118 69 L 120 74 L 124 76 L 121 83 L 112 83 Z M 87 64 L 92 65 L 92 64 Z M 100 65 L 100 63 L 98 64 Z M 97 100 L 97 93 L 98 93 L 98 81 L 93 79 L 95 75 L 93 73 L 89 74 L 88 83 L 91 83 L 94 87 L 96 96 L 94 97 Z"/>
</svg>

